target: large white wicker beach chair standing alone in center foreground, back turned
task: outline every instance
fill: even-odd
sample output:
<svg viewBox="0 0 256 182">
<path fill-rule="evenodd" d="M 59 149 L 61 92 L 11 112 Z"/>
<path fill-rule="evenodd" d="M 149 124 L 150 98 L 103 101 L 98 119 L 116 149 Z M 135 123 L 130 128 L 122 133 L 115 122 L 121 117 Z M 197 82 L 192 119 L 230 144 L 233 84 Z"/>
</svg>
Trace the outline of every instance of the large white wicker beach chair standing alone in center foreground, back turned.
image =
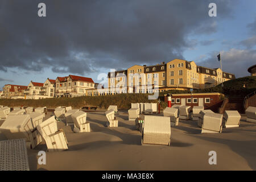
<svg viewBox="0 0 256 182">
<path fill-rule="evenodd" d="M 144 128 L 142 131 L 142 144 L 163 144 L 171 143 L 171 122 L 170 117 L 144 116 Z"/>
</svg>

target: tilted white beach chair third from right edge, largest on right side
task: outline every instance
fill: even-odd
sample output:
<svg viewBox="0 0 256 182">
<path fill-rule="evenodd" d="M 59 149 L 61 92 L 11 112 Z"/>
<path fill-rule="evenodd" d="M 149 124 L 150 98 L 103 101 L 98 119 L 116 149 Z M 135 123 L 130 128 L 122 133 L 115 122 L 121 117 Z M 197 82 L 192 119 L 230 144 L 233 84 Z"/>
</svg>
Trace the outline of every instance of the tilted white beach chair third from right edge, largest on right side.
<svg viewBox="0 0 256 182">
<path fill-rule="evenodd" d="M 222 118 L 222 114 L 205 113 L 201 133 L 221 133 Z"/>
</svg>

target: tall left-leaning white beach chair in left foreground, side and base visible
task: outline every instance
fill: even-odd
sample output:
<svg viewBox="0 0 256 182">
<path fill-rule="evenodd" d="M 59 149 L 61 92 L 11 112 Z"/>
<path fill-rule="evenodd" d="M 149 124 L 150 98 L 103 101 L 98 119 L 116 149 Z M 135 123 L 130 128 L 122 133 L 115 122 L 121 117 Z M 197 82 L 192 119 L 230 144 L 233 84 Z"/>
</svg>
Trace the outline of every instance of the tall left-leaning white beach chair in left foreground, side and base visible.
<svg viewBox="0 0 256 182">
<path fill-rule="evenodd" d="M 57 121 L 54 116 L 40 123 L 36 127 L 46 141 L 48 151 L 63 151 L 68 149 L 68 141 L 62 129 L 57 129 Z"/>
</svg>

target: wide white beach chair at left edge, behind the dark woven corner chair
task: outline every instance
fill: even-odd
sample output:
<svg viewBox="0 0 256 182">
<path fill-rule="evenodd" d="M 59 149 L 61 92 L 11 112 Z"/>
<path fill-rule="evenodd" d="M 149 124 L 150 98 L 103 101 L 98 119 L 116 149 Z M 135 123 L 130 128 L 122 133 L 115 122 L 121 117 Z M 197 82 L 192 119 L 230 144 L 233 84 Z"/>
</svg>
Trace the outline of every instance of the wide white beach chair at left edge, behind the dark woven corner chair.
<svg viewBox="0 0 256 182">
<path fill-rule="evenodd" d="M 0 126 L 1 133 L 8 139 L 26 138 L 30 141 L 29 134 L 34 130 L 30 115 L 9 115 Z"/>
</svg>

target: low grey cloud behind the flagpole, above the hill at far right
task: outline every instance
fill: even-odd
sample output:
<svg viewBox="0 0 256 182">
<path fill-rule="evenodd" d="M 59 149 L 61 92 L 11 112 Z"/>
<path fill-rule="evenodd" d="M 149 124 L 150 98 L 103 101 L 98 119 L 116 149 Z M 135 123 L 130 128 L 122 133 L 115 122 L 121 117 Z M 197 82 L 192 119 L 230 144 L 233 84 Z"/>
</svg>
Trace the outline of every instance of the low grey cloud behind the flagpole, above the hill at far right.
<svg viewBox="0 0 256 182">
<path fill-rule="evenodd" d="M 210 53 L 210 57 L 196 63 L 208 68 L 220 68 L 220 62 L 217 60 L 219 52 Z M 256 50 L 229 49 L 221 52 L 222 69 L 224 72 L 234 73 L 236 77 L 249 76 L 247 69 L 255 64 Z M 230 65 L 233 65 L 230 67 Z"/>
</svg>

